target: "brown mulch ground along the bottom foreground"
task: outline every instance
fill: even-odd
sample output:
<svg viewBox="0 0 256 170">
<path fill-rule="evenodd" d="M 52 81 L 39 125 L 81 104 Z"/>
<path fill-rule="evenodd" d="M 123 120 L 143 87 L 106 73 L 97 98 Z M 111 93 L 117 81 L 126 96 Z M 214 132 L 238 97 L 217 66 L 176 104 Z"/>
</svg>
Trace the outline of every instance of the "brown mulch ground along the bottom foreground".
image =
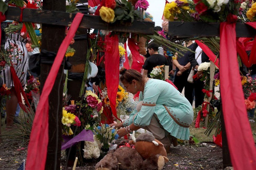
<svg viewBox="0 0 256 170">
<path fill-rule="evenodd" d="M 26 152 L 27 148 L 6 148 L 3 144 L 0 144 L 0 170 L 18 169 L 23 159 L 26 158 Z M 169 162 L 165 164 L 163 170 L 222 169 L 222 149 L 211 143 L 171 147 L 168 158 Z M 63 162 L 65 162 L 65 156 L 62 156 Z M 97 160 L 90 161 L 86 163 L 86 166 L 77 167 L 76 170 L 94 170 L 97 162 Z M 72 169 L 72 167 L 67 169 Z"/>
</svg>

